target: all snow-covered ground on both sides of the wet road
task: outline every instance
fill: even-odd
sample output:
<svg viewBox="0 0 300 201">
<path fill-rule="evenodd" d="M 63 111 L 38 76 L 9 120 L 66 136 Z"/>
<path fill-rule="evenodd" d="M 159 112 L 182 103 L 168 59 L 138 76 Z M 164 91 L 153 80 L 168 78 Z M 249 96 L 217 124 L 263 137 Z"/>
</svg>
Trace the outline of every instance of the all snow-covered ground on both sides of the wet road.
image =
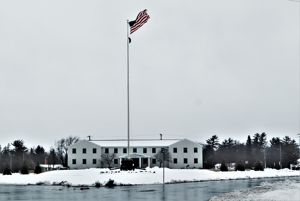
<svg viewBox="0 0 300 201">
<path fill-rule="evenodd" d="M 300 171 L 265 169 L 264 171 L 214 172 L 197 169 L 164 169 L 165 183 L 218 181 L 230 179 L 259 179 L 272 177 L 300 176 Z M 56 170 L 41 174 L 0 175 L 0 184 L 95 186 L 98 181 L 105 185 L 108 180 L 116 185 L 143 185 L 163 183 L 163 168 L 146 168 L 146 171 L 110 171 L 109 169 Z M 300 183 L 297 181 L 263 182 L 258 187 L 235 190 L 228 194 L 212 197 L 211 200 L 300 200 Z"/>
</svg>

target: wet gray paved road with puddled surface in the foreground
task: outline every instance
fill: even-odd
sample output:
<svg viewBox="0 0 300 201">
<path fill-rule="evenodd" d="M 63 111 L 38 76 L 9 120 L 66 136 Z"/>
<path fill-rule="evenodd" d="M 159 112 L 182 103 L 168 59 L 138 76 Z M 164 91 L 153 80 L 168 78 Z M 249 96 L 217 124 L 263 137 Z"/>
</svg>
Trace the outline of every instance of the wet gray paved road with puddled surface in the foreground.
<svg viewBox="0 0 300 201">
<path fill-rule="evenodd" d="M 261 182 L 299 177 L 191 182 L 180 184 L 90 187 L 79 190 L 62 186 L 0 185 L 0 200 L 209 200 L 235 189 L 258 186 Z"/>
</svg>

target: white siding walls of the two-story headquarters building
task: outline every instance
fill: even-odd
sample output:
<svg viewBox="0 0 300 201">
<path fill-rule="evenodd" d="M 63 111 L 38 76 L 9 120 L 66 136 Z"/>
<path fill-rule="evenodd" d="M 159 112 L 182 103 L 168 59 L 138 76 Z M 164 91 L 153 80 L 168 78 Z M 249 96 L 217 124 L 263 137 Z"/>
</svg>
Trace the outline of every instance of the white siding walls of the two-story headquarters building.
<svg viewBox="0 0 300 201">
<path fill-rule="evenodd" d="M 184 139 L 184 140 L 173 140 L 173 141 L 165 141 L 166 143 L 173 143 L 173 144 L 167 144 L 166 146 L 161 146 L 162 140 L 157 140 L 158 146 L 131 146 L 129 153 L 134 153 L 133 149 L 136 148 L 136 153 L 142 154 L 142 155 L 148 155 L 150 156 L 150 160 L 147 159 L 147 164 L 143 163 L 143 159 L 141 158 L 140 167 L 155 167 L 160 166 L 159 162 L 156 160 L 156 164 L 152 163 L 152 159 L 154 159 L 154 155 L 161 150 L 161 148 L 167 148 L 172 156 L 172 162 L 165 161 L 164 167 L 174 168 L 174 169 L 180 169 L 180 168 L 186 168 L 187 165 L 190 165 L 190 168 L 202 168 L 202 145 L 198 143 L 194 143 L 190 140 Z M 128 148 L 127 146 L 100 146 L 99 142 L 94 143 L 95 140 L 88 141 L 88 140 L 82 140 L 79 141 L 71 146 L 68 147 L 68 166 L 70 169 L 86 169 L 86 168 L 107 168 L 108 165 L 99 164 L 98 160 L 101 158 L 101 154 L 105 153 L 105 149 L 109 149 L 109 153 L 114 152 L 114 149 L 118 149 L 118 153 L 116 153 L 116 158 L 118 159 L 118 164 L 114 164 L 114 160 L 112 161 L 110 167 L 120 167 L 120 160 L 122 158 L 119 158 L 120 156 L 126 155 L 127 153 L 123 153 L 123 148 Z M 174 143 L 175 142 L 175 143 Z M 110 142 L 111 143 L 111 142 Z M 143 141 L 145 143 L 145 141 Z M 153 141 L 151 141 L 153 144 Z M 118 143 L 116 143 L 118 144 Z M 177 148 L 177 153 L 173 153 L 173 148 Z M 183 148 L 187 148 L 187 153 L 183 152 Z M 194 153 L 194 147 L 197 148 L 196 153 Z M 82 149 L 86 149 L 86 154 L 82 153 Z M 97 153 L 93 154 L 93 148 L 97 148 Z M 147 148 L 147 152 L 144 153 L 144 148 Z M 155 153 L 152 153 L 152 148 L 155 148 Z M 76 149 L 76 154 L 72 153 L 72 150 Z M 127 150 L 128 151 L 128 150 Z M 177 164 L 174 164 L 174 158 L 177 158 Z M 187 158 L 187 163 L 184 163 L 184 158 Z M 198 159 L 198 163 L 194 163 L 194 158 Z M 76 164 L 72 164 L 72 159 L 76 159 Z M 82 164 L 82 159 L 86 159 L 86 164 Z M 92 164 L 93 159 L 97 159 L 97 164 Z M 163 164 L 161 165 L 163 167 Z"/>
</svg>

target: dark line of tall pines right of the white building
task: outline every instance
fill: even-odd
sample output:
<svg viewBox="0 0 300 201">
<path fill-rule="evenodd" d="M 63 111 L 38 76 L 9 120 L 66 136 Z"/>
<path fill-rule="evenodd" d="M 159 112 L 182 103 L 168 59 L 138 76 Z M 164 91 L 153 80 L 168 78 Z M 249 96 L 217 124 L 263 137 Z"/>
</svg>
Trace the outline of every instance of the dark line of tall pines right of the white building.
<svg viewBox="0 0 300 201">
<path fill-rule="evenodd" d="M 254 167 L 256 163 L 263 168 L 290 168 L 291 164 L 297 164 L 300 158 L 299 144 L 295 139 L 285 136 L 282 139 L 273 137 L 267 141 L 266 133 L 256 133 L 251 138 L 248 135 L 246 143 L 232 138 L 220 142 L 217 135 L 206 140 L 203 145 L 203 168 L 214 168 L 215 164 L 221 164 L 223 159 L 227 163 L 242 161 L 246 169 Z"/>
</svg>

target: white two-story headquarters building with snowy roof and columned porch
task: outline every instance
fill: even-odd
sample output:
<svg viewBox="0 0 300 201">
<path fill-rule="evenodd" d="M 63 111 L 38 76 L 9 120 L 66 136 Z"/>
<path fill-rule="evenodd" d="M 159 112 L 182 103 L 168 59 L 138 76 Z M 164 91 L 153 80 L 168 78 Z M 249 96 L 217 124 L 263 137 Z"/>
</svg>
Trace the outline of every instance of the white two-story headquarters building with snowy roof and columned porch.
<svg viewBox="0 0 300 201">
<path fill-rule="evenodd" d="M 202 145 L 191 140 L 130 140 L 130 158 L 135 167 L 160 166 L 154 155 L 168 149 L 172 162 L 164 166 L 174 169 L 202 168 Z M 110 167 L 120 167 L 121 161 L 128 158 L 128 140 L 81 140 L 68 146 L 68 166 L 70 169 L 107 168 L 99 159 L 104 153 L 115 153 Z"/>
</svg>

